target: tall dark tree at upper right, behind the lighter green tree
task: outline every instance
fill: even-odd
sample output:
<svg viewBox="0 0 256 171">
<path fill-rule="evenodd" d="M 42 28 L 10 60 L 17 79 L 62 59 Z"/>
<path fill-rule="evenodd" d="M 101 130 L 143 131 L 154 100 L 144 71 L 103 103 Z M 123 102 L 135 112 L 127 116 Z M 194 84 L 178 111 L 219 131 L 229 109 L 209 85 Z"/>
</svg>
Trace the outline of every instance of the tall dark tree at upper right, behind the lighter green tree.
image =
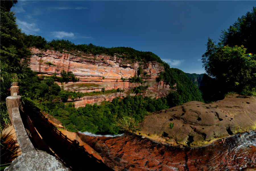
<svg viewBox="0 0 256 171">
<path fill-rule="evenodd" d="M 256 54 L 256 7 L 253 7 L 245 16 L 238 18 L 227 31 L 222 31 L 220 38 L 223 45 L 229 47 L 243 45 L 247 48 L 246 53 Z"/>
</svg>

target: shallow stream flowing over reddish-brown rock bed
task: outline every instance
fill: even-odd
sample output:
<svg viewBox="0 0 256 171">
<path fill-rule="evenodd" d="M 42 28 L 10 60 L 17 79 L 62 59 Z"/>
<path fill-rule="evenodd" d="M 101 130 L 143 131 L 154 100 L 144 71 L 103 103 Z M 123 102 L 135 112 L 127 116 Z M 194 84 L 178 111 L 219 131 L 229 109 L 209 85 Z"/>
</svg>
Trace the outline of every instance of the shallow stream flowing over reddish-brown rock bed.
<svg viewBox="0 0 256 171">
<path fill-rule="evenodd" d="M 200 148 L 158 144 L 131 133 L 79 136 L 114 170 L 244 170 L 256 167 L 256 131 Z"/>
</svg>

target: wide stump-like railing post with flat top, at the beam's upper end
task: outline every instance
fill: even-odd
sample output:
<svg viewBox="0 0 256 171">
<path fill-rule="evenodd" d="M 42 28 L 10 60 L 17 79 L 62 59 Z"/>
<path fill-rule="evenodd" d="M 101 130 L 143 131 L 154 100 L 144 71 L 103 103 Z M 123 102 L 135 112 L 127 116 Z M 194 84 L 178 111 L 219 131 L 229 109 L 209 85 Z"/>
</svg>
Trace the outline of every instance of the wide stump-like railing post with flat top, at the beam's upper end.
<svg viewBox="0 0 256 171">
<path fill-rule="evenodd" d="M 22 105 L 22 100 L 21 100 L 21 96 L 9 96 L 6 97 L 6 106 L 7 106 L 7 110 L 10 116 L 10 120 L 11 123 L 13 123 L 13 108 L 19 108 L 22 112 L 24 112 L 23 110 L 23 105 Z"/>
</svg>

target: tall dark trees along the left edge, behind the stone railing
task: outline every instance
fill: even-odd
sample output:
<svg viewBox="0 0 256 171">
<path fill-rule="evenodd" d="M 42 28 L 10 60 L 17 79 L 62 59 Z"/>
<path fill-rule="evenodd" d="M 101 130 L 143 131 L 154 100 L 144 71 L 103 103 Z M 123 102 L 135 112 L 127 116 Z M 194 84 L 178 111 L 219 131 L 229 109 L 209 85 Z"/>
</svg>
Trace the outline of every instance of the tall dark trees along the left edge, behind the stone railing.
<svg viewBox="0 0 256 171">
<path fill-rule="evenodd" d="M 10 86 L 12 82 L 26 77 L 24 69 L 26 65 L 20 63 L 20 59 L 25 59 L 29 55 L 22 42 L 23 35 L 16 24 L 14 12 L 10 9 L 17 1 L 1 1 L 1 42 L 0 42 L 0 57 L 1 57 L 1 86 L 0 86 L 0 101 L 1 101 L 1 130 L 6 124 L 10 123 L 7 117 L 7 109 L 5 106 L 5 98 L 10 95 Z"/>
</svg>

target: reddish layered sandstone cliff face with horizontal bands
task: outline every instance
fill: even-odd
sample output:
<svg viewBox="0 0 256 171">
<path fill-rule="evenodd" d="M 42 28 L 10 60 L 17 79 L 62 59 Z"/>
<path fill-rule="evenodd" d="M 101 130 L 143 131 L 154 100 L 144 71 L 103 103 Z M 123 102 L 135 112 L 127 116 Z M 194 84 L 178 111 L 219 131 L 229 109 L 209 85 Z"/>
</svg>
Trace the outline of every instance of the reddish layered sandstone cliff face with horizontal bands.
<svg viewBox="0 0 256 171">
<path fill-rule="evenodd" d="M 141 95 L 159 98 L 170 92 L 168 84 L 162 81 L 156 82 L 158 73 L 164 71 L 164 67 L 157 62 L 139 63 L 116 56 L 91 55 L 80 52 L 60 53 L 59 51 L 43 51 L 35 48 L 31 48 L 31 52 L 33 55 L 30 57 L 30 68 L 38 74 L 50 76 L 56 72 L 57 76 L 60 76 L 60 72 L 65 70 L 72 71 L 79 78 L 79 82 L 64 83 L 62 86 L 66 90 L 85 93 L 100 91 L 102 88 L 105 90 L 120 88 L 127 91 L 141 84 L 128 82 L 128 80 L 123 81 L 121 78 L 129 79 L 137 75 L 139 67 L 141 67 L 140 76 L 146 81 L 143 86 L 148 86 L 148 89 Z M 123 97 L 128 94 L 115 93 L 102 97 L 82 97 L 75 99 L 75 103 L 78 106 L 84 106 L 86 103 L 100 103 L 105 99 L 112 100 L 115 97 Z"/>
</svg>

